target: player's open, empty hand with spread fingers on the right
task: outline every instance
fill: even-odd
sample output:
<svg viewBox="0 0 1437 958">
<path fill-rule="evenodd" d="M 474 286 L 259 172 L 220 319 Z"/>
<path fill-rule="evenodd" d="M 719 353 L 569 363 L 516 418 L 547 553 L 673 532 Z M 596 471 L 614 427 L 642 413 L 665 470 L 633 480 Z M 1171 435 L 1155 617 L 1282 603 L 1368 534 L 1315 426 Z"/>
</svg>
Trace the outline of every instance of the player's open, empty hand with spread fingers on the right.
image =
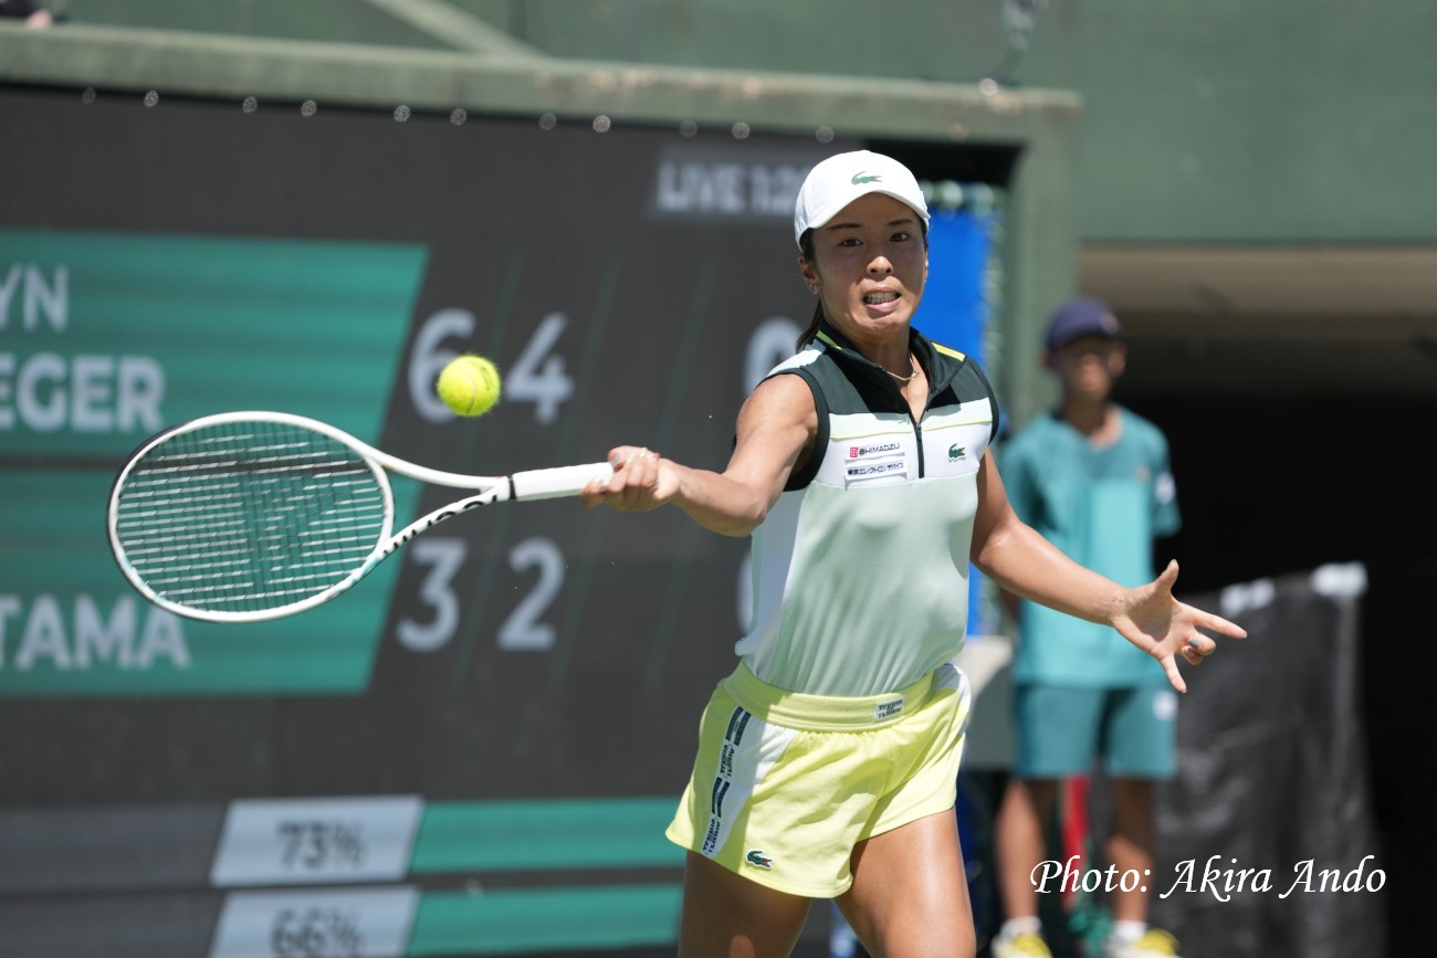
<svg viewBox="0 0 1437 958">
<path fill-rule="evenodd" d="M 1221 616 L 1194 609 L 1173 597 L 1173 583 L 1177 582 L 1177 562 L 1170 562 L 1163 575 L 1145 586 L 1128 589 L 1118 599 L 1112 613 L 1112 628 L 1122 638 L 1155 658 L 1168 681 L 1180 692 L 1187 691 L 1187 682 L 1177 671 L 1177 656 L 1188 665 L 1201 665 L 1203 659 L 1217 651 L 1217 642 L 1198 629 L 1219 632 L 1232 639 L 1247 638 L 1247 631 Z"/>
</svg>

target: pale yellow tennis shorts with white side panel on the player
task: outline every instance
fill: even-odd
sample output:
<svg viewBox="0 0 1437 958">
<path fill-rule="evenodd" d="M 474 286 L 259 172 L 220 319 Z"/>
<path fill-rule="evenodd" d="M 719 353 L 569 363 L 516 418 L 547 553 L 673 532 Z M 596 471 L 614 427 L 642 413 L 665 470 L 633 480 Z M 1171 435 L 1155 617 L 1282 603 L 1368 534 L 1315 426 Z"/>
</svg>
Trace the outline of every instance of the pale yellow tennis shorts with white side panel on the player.
<svg viewBox="0 0 1437 958">
<path fill-rule="evenodd" d="M 740 664 L 704 710 L 667 836 L 760 885 L 836 898 L 855 845 L 953 809 L 969 701 L 947 664 L 864 698 L 786 692 Z"/>
</svg>

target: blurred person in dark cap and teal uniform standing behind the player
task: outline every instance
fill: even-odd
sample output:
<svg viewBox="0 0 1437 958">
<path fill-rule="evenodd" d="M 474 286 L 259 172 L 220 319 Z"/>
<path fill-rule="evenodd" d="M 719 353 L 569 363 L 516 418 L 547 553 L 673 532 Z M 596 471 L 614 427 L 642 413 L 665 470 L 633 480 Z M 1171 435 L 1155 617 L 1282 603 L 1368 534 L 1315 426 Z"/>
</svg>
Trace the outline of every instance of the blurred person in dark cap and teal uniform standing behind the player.
<svg viewBox="0 0 1437 958">
<path fill-rule="evenodd" d="M 1154 564 L 1167 564 L 1154 563 L 1158 540 L 1181 518 L 1167 438 L 1112 399 L 1128 356 L 1122 325 L 1106 303 L 1076 297 L 1052 315 L 1045 345 L 1059 405 L 1003 445 L 1009 501 L 1079 564 L 1121 585 L 1148 582 Z M 1177 774 L 1177 697 L 1163 669 L 1114 629 L 1010 593 L 1004 605 L 1017 625 L 1017 754 L 996 822 L 1006 921 L 993 955 L 1046 957 L 1033 876 L 1040 862 L 1062 857 L 1048 847 L 1059 787 L 1102 760 L 1112 807 L 1106 860 L 1119 873 L 1151 870 L 1155 786 Z M 1109 903 L 1105 958 L 1177 954 L 1173 936 L 1147 924 L 1144 885 L 1115 890 Z"/>
</svg>

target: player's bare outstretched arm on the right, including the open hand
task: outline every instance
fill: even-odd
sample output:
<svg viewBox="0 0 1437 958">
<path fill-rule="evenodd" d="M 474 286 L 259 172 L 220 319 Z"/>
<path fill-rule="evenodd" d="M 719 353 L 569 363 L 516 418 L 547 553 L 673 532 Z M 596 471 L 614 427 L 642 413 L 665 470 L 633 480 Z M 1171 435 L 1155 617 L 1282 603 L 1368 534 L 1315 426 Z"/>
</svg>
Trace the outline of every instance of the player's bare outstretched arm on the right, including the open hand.
<svg viewBox="0 0 1437 958">
<path fill-rule="evenodd" d="M 999 586 L 1059 612 L 1102 622 L 1155 658 L 1180 692 L 1187 684 L 1177 669 L 1181 655 L 1198 665 L 1217 643 L 1200 629 L 1234 639 L 1247 633 L 1220 616 L 1196 609 L 1173 596 L 1177 563 L 1157 579 L 1127 589 L 1078 564 L 1032 526 L 1020 521 L 1007 501 L 993 451 L 979 465 L 979 510 L 973 523 L 973 563 Z"/>
</svg>

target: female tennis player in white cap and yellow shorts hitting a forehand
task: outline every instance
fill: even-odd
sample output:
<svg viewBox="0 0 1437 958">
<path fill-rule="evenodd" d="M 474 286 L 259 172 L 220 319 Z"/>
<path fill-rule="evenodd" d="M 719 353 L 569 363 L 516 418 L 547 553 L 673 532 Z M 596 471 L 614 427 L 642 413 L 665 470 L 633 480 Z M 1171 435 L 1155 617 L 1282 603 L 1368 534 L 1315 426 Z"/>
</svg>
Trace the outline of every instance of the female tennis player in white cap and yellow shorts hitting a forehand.
<svg viewBox="0 0 1437 958">
<path fill-rule="evenodd" d="M 818 164 L 795 208 L 818 297 L 799 352 L 739 411 L 724 471 L 611 451 L 586 507 L 671 504 L 752 536 L 752 629 L 700 722 L 668 837 L 688 850 L 681 958 L 783 958 L 816 898 L 869 954 L 971 958 L 953 811 L 969 689 L 970 560 L 1004 589 L 1104 622 L 1178 689 L 1177 656 L 1246 633 L 1173 597 L 1177 566 L 1125 589 L 1013 514 L 989 451 L 997 402 L 967 356 L 911 327 L 928 273 L 912 174 L 868 151 Z"/>
</svg>

